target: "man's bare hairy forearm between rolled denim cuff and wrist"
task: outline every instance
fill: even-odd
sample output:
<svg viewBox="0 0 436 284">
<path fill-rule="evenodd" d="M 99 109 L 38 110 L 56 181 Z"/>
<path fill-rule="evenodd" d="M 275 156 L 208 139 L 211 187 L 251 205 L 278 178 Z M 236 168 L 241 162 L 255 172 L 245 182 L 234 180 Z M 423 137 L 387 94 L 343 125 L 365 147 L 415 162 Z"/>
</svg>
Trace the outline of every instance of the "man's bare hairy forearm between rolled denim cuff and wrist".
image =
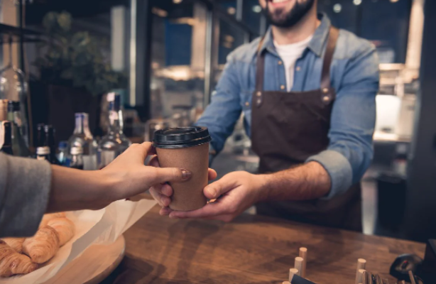
<svg viewBox="0 0 436 284">
<path fill-rule="evenodd" d="M 331 187 L 329 174 L 317 162 L 260 177 L 264 201 L 314 200 L 327 195 Z"/>
</svg>

